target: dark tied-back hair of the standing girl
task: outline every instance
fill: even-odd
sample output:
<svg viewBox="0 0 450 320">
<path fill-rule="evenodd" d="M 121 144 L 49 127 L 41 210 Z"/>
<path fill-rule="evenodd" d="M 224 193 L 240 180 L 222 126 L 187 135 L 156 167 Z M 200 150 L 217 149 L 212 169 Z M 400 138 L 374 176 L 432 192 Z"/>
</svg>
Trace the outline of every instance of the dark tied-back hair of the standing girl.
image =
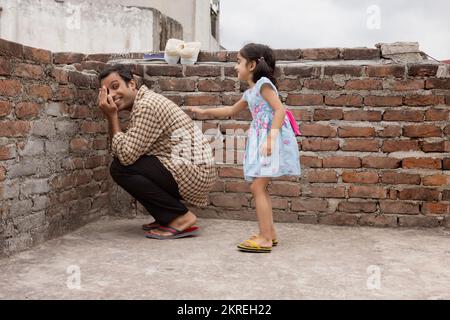
<svg viewBox="0 0 450 320">
<path fill-rule="evenodd" d="M 254 83 L 262 77 L 266 77 L 277 86 L 275 79 L 275 54 L 270 47 L 263 44 L 249 43 L 239 51 L 239 54 L 247 62 L 256 62 L 256 68 L 253 71 Z"/>
</svg>

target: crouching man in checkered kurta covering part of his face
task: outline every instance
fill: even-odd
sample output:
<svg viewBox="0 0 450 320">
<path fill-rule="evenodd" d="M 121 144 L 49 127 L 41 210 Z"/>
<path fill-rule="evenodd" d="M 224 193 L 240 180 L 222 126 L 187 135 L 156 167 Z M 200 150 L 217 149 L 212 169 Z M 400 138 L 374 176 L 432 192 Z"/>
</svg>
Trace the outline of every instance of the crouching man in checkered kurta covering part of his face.
<svg viewBox="0 0 450 320">
<path fill-rule="evenodd" d="M 207 205 L 217 179 L 211 147 L 192 119 L 176 104 L 142 85 L 124 65 L 99 75 L 99 107 L 109 124 L 114 181 L 155 218 L 146 237 L 195 235 L 196 216 L 180 201 Z M 130 110 L 126 132 L 118 113 Z M 180 155 L 182 153 L 182 155 Z"/>
</svg>

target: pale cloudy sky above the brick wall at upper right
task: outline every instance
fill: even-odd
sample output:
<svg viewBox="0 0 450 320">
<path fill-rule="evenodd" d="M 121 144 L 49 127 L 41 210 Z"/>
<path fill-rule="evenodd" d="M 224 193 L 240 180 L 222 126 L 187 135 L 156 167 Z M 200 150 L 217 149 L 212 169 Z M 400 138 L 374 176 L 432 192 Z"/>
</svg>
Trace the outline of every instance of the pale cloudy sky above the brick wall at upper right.
<svg viewBox="0 0 450 320">
<path fill-rule="evenodd" d="M 273 48 L 369 47 L 418 41 L 450 59 L 448 0 L 221 0 L 221 44 Z"/>
</svg>

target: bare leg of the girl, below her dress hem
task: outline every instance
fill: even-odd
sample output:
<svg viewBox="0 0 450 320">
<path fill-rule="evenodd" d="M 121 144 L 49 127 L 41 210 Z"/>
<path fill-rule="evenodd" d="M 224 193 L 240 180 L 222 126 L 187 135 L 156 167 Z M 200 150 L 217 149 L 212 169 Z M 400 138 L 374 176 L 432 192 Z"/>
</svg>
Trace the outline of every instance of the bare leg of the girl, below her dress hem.
<svg viewBox="0 0 450 320">
<path fill-rule="evenodd" d="M 259 245 L 264 247 L 272 246 L 273 215 L 272 203 L 267 191 L 270 178 L 255 178 L 251 185 L 253 198 L 255 199 L 256 216 L 258 218 L 259 235 L 256 239 Z"/>
</svg>

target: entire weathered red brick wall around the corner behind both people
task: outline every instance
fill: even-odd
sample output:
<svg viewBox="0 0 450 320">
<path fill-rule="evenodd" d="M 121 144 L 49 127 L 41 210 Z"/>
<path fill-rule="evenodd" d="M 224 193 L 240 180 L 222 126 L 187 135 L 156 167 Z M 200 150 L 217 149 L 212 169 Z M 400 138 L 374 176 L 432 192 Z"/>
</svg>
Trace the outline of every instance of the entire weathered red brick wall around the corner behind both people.
<svg viewBox="0 0 450 320">
<path fill-rule="evenodd" d="M 6 41 L 0 52 L 5 252 L 103 214 L 144 214 L 108 177 L 107 128 L 96 108 L 96 75 L 107 63 L 131 64 L 141 83 L 184 109 L 231 105 L 246 89 L 233 68 L 236 52 L 202 52 L 195 66 L 149 63 L 139 60 L 141 53 L 50 53 Z M 270 186 L 277 221 L 450 227 L 448 66 L 395 63 L 365 48 L 276 55 L 281 98 L 303 133 L 302 176 Z M 220 180 L 210 205 L 192 210 L 255 219 L 240 165 L 250 113 L 194 119 L 213 146 L 234 147 L 216 148 L 223 152 Z M 122 120 L 125 127 L 127 114 Z"/>
</svg>

